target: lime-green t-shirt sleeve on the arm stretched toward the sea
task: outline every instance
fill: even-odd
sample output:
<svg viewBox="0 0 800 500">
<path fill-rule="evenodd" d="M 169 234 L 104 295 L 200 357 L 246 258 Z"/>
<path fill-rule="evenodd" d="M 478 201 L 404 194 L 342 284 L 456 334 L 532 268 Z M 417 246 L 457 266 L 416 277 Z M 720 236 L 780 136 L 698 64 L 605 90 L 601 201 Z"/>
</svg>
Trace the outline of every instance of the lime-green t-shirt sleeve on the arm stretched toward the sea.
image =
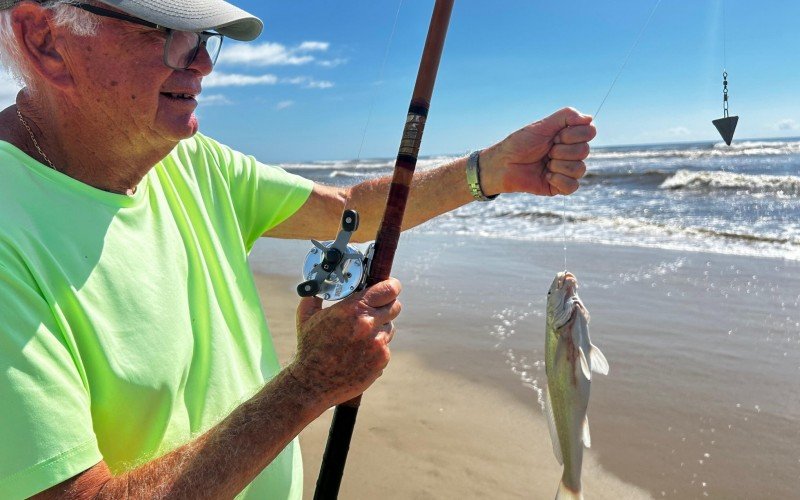
<svg viewBox="0 0 800 500">
<path fill-rule="evenodd" d="M 291 217 L 308 200 L 314 182 L 259 162 L 208 137 L 197 136 L 218 158 L 242 231 L 250 250 L 264 232 Z"/>
</svg>

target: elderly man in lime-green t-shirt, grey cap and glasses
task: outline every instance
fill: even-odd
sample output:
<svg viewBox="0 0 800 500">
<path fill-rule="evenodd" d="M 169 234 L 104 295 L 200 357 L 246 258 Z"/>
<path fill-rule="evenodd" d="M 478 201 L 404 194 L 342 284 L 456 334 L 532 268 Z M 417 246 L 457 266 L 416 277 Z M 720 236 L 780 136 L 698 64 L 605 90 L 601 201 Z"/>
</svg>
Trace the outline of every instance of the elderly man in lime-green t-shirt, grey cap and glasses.
<svg viewBox="0 0 800 500">
<path fill-rule="evenodd" d="M 246 256 L 261 236 L 375 234 L 388 189 L 314 184 L 197 133 L 222 0 L 0 0 L 24 82 L 0 112 L 0 498 L 300 498 L 296 436 L 389 361 L 400 284 L 298 308 L 281 369 Z M 570 194 L 571 109 L 425 172 L 406 227 L 503 192 Z M 480 180 L 477 164 L 480 166 Z M 470 189 L 472 187 L 472 189 Z"/>
</svg>

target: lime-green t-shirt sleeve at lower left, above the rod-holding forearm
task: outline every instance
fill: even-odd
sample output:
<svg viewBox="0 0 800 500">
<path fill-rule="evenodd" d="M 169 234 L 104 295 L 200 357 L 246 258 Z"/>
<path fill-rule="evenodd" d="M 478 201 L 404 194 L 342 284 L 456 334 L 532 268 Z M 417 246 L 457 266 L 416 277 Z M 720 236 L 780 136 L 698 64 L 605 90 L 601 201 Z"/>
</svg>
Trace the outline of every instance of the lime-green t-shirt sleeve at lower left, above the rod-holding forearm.
<svg viewBox="0 0 800 500">
<path fill-rule="evenodd" d="M 102 460 L 89 394 L 53 312 L 0 265 L 0 498 L 27 498 Z"/>
</svg>

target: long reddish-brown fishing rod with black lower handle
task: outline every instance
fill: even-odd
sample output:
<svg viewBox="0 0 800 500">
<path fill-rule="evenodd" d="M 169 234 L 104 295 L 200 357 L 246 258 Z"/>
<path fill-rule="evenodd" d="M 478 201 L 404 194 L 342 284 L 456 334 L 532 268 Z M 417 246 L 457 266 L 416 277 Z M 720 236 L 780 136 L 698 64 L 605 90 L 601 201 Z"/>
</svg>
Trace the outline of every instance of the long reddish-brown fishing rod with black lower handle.
<svg viewBox="0 0 800 500">
<path fill-rule="evenodd" d="M 386 201 L 386 211 L 375 238 L 375 253 L 367 277 L 367 286 L 387 279 L 392 272 L 392 262 L 400 240 L 411 179 L 417 166 L 417 155 L 454 2 L 455 0 L 436 0 L 433 8 L 428 36 L 417 72 L 417 81 L 414 85 L 411 105 L 403 129 L 403 138 L 400 141 L 400 150 L 395 162 L 392 184 Z M 339 486 L 344 474 L 347 452 L 350 448 L 350 440 L 360 404 L 361 396 L 358 396 L 336 407 L 328 434 L 328 443 L 322 457 L 314 500 L 334 500 L 339 496 Z"/>
</svg>

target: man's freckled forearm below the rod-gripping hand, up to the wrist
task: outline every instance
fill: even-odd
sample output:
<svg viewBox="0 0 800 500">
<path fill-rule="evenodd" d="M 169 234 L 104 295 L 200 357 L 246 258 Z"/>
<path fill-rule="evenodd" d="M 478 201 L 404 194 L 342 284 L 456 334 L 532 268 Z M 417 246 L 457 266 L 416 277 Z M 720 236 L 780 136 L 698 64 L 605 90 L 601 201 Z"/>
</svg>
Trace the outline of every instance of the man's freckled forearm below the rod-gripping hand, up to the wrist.
<svg viewBox="0 0 800 500">
<path fill-rule="evenodd" d="M 284 370 L 202 436 L 126 474 L 105 462 L 36 499 L 233 498 L 325 408 Z"/>
</svg>

